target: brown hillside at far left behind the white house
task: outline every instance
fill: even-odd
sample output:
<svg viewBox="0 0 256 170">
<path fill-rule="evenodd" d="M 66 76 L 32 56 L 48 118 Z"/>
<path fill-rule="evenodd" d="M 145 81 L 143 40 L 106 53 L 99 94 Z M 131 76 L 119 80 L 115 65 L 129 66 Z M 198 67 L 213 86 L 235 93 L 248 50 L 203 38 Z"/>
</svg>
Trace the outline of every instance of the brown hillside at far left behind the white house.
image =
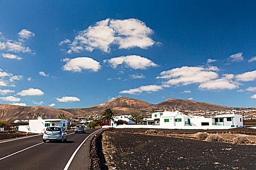
<svg viewBox="0 0 256 170">
<path fill-rule="evenodd" d="M 59 114 L 65 114 L 67 118 L 75 115 L 64 110 L 44 106 L 16 106 L 11 104 L 0 104 L 0 120 L 35 119 L 36 116 L 47 119 L 56 119 Z"/>
</svg>

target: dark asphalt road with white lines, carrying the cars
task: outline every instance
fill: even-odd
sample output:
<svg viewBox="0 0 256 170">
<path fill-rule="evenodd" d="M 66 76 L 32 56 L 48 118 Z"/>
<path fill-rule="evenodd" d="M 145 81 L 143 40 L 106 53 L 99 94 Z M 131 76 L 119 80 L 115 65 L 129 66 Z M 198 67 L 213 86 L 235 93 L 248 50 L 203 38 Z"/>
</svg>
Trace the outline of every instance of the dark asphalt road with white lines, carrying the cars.
<svg viewBox="0 0 256 170">
<path fill-rule="evenodd" d="M 88 129 L 86 134 L 68 131 L 65 143 L 43 143 L 42 135 L 0 141 L 0 170 L 88 170 L 90 141 L 98 132 L 99 129 Z"/>
</svg>

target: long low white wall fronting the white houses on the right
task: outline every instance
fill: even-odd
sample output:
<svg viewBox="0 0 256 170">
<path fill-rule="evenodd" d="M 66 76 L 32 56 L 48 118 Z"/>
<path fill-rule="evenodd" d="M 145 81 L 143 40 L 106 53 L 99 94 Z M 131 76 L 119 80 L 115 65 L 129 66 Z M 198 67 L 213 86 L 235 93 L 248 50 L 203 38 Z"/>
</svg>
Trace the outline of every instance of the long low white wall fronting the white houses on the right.
<svg viewBox="0 0 256 170">
<path fill-rule="evenodd" d="M 233 129 L 230 126 L 160 126 L 160 125 L 118 125 L 102 126 L 102 128 L 147 128 L 147 129 Z"/>
</svg>

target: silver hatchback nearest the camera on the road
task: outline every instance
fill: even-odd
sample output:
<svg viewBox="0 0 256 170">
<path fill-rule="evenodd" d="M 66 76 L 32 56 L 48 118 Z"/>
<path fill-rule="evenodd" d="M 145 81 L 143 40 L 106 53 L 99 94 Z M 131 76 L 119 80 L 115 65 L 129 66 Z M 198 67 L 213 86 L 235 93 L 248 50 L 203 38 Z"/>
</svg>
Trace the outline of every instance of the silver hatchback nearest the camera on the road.
<svg viewBox="0 0 256 170">
<path fill-rule="evenodd" d="M 67 131 L 62 126 L 49 126 L 43 134 L 43 142 L 46 142 L 46 140 L 67 141 Z"/>
</svg>

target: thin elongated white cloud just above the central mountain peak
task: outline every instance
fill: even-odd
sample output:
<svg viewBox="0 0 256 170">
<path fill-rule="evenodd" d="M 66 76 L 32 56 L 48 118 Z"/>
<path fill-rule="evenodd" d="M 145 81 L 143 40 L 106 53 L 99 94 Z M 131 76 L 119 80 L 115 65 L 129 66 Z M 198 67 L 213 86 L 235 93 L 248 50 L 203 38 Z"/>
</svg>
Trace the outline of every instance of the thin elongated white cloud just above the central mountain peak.
<svg viewBox="0 0 256 170">
<path fill-rule="evenodd" d="M 119 93 L 138 95 L 138 94 L 142 93 L 143 91 L 154 92 L 154 91 L 159 91 L 161 89 L 163 89 L 163 87 L 161 85 L 142 85 L 138 88 L 120 91 Z"/>
</svg>

